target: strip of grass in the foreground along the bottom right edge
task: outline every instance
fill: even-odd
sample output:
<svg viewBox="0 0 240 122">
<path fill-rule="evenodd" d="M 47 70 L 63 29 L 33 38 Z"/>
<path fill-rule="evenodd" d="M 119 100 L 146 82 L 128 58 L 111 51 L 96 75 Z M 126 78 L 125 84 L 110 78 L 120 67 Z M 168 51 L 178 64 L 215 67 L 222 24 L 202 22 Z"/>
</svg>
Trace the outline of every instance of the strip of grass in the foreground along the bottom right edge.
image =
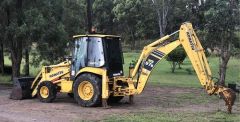
<svg viewBox="0 0 240 122">
<path fill-rule="evenodd" d="M 238 122 L 238 114 L 226 112 L 139 112 L 110 116 L 104 122 Z"/>
</svg>

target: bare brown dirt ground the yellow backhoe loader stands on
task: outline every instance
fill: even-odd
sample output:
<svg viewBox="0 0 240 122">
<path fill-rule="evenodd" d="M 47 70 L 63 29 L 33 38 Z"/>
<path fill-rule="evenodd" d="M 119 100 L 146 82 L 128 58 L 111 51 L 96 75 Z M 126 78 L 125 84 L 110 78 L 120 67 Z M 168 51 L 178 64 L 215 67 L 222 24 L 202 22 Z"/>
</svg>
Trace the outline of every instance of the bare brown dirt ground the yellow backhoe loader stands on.
<svg viewBox="0 0 240 122">
<path fill-rule="evenodd" d="M 130 112 L 213 112 L 226 111 L 224 102 L 209 97 L 200 88 L 178 88 L 147 86 L 141 95 L 134 97 L 133 105 L 127 104 L 127 98 L 112 105 L 110 109 L 102 107 L 81 107 L 66 94 L 59 94 L 54 103 L 41 103 L 38 99 L 10 100 L 11 87 L 0 85 L 0 120 L 3 122 L 51 121 L 67 122 L 80 120 L 101 120 L 109 115 Z M 192 97 L 188 97 L 191 95 Z M 201 102 L 202 99 L 206 101 Z M 199 102 L 200 101 L 200 102 Z M 240 113 L 239 102 L 233 112 Z"/>
</svg>

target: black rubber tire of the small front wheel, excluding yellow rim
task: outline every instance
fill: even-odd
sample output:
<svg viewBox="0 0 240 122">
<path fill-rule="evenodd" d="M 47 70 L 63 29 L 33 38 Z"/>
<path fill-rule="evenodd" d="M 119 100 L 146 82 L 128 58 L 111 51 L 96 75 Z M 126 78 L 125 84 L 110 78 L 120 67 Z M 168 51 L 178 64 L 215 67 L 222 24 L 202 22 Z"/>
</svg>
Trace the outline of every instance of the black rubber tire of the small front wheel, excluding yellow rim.
<svg viewBox="0 0 240 122">
<path fill-rule="evenodd" d="M 46 98 L 44 98 L 40 93 L 40 89 L 44 86 L 47 87 L 49 90 L 48 97 L 46 97 Z M 50 103 L 56 98 L 56 95 L 57 95 L 57 88 L 56 88 L 56 85 L 54 85 L 52 82 L 44 81 L 44 82 L 40 83 L 40 85 L 38 86 L 37 96 L 41 102 Z"/>
</svg>

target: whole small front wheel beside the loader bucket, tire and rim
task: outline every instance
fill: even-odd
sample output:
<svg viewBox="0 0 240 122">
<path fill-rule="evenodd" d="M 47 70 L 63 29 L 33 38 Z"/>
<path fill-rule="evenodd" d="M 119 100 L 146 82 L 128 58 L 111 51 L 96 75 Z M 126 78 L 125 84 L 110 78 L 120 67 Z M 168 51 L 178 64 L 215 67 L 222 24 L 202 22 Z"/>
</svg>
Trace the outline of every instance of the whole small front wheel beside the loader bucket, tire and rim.
<svg viewBox="0 0 240 122">
<path fill-rule="evenodd" d="M 57 89 L 50 81 L 44 81 L 38 86 L 38 99 L 44 103 L 50 103 L 56 98 Z"/>
</svg>

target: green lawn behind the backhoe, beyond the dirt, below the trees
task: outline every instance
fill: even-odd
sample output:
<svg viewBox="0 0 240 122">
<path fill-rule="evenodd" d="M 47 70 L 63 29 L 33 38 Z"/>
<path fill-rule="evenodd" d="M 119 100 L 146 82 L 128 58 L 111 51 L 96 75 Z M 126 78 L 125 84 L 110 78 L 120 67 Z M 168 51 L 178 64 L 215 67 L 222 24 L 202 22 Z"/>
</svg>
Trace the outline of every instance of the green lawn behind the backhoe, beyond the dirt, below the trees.
<svg viewBox="0 0 240 122">
<path fill-rule="evenodd" d="M 124 72 L 128 75 L 128 66 L 132 60 L 137 60 L 139 53 L 124 53 Z M 213 73 L 213 76 L 218 77 L 219 61 L 217 57 L 208 58 L 209 64 Z M 24 64 L 24 60 L 22 61 Z M 8 57 L 5 57 L 5 65 L 10 66 L 11 61 Z M 23 65 L 22 65 L 23 67 Z M 21 71 L 23 68 L 21 67 Z M 35 76 L 42 66 L 33 67 L 30 66 L 30 75 Z M 171 73 L 171 65 L 165 59 L 163 59 L 153 70 L 149 83 L 154 85 L 163 86 L 179 86 L 179 87 L 201 87 L 196 74 L 193 71 L 191 62 L 186 59 L 182 65 L 182 69 L 176 69 L 175 73 Z M 192 70 L 192 74 L 189 74 L 187 69 Z M 0 75 L 1 83 L 11 83 L 11 77 L 9 75 Z M 240 62 L 239 59 L 232 58 L 228 64 L 226 82 L 236 82 L 240 79 Z"/>
</svg>

